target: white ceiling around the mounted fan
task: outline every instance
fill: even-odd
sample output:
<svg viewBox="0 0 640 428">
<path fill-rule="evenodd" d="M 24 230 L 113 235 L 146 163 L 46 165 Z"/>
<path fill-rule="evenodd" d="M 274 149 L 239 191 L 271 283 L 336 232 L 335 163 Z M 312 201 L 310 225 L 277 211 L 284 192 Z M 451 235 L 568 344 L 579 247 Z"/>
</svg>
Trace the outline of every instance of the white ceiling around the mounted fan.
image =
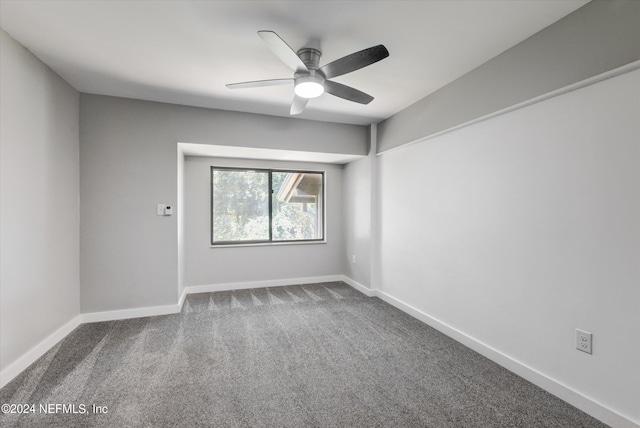
<svg viewBox="0 0 640 428">
<path fill-rule="evenodd" d="M 57 1 L 1 0 L 0 26 L 80 92 L 289 115 L 292 86 L 227 83 L 292 77 L 264 45 L 273 30 L 326 64 L 384 44 L 389 58 L 335 78 L 375 97 L 329 94 L 300 116 L 379 122 L 540 31 L 588 0 Z"/>
</svg>

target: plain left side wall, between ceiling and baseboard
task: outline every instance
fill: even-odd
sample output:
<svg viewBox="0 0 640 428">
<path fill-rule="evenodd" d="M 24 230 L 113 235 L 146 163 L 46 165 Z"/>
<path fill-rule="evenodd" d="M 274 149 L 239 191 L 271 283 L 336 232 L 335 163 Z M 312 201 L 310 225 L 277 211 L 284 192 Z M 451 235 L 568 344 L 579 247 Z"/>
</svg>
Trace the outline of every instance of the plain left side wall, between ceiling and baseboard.
<svg viewBox="0 0 640 428">
<path fill-rule="evenodd" d="M 79 95 L 4 31 L 0 43 L 4 370 L 80 313 Z"/>
</svg>

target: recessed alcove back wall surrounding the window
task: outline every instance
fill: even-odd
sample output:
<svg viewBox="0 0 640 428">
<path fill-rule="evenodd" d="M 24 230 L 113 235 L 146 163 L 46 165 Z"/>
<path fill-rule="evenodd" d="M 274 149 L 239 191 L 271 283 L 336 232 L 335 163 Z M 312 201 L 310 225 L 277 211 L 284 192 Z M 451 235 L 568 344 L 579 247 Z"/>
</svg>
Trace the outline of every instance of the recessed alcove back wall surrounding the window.
<svg viewBox="0 0 640 428">
<path fill-rule="evenodd" d="M 211 166 L 325 171 L 326 243 L 211 248 Z M 203 286 L 342 274 L 342 166 L 187 157 L 185 285 Z"/>
</svg>

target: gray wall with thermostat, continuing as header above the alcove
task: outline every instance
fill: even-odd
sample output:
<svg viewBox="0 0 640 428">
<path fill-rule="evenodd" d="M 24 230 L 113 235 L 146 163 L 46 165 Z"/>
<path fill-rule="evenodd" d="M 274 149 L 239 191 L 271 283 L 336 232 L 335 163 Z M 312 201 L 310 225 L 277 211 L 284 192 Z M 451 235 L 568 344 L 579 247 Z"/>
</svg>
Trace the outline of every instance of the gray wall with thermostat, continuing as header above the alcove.
<svg viewBox="0 0 640 428">
<path fill-rule="evenodd" d="M 177 302 L 178 219 L 155 209 L 178 202 L 178 142 L 356 155 L 368 147 L 362 126 L 85 94 L 80 105 L 82 312 Z"/>
</svg>

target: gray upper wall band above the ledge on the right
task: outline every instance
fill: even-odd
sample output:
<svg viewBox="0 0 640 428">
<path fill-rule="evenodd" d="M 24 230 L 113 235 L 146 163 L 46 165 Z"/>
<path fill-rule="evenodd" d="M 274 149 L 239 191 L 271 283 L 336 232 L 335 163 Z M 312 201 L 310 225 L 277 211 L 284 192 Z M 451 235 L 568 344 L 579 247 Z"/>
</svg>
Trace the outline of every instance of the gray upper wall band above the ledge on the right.
<svg viewBox="0 0 640 428">
<path fill-rule="evenodd" d="M 640 1 L 592 1 L 378 125 L 378 153 L 640 60 Z"/>
</svg>

